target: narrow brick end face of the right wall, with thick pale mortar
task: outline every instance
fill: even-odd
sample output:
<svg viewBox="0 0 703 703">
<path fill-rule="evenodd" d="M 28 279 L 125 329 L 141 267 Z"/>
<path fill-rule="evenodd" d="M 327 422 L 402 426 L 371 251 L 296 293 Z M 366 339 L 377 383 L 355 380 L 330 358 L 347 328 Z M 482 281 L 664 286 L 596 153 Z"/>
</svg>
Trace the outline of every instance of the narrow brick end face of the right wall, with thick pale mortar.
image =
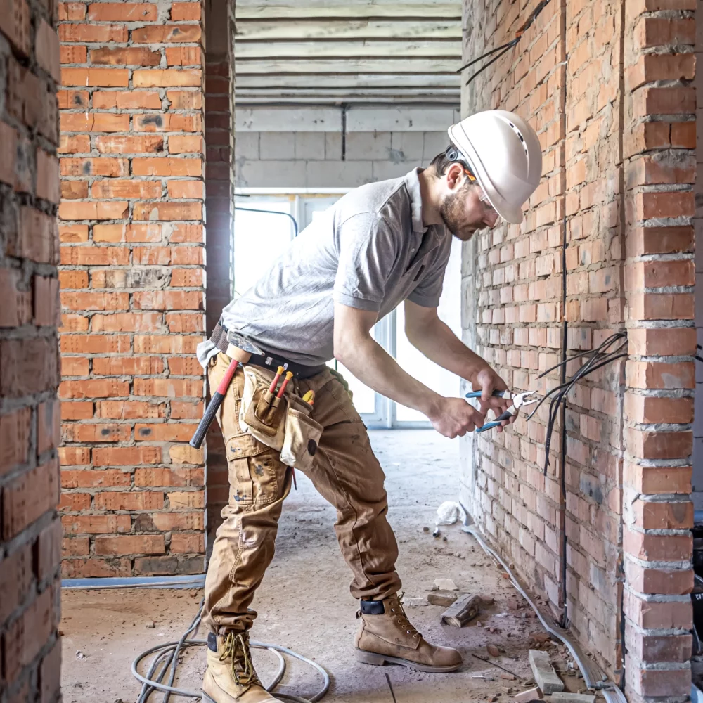
<svg viewBox="0 0 703 703">
<path fill-rule="evenodd" d="M 626 4 L 628 699 L 690 692 L 694 0 Z"/>
</svg>

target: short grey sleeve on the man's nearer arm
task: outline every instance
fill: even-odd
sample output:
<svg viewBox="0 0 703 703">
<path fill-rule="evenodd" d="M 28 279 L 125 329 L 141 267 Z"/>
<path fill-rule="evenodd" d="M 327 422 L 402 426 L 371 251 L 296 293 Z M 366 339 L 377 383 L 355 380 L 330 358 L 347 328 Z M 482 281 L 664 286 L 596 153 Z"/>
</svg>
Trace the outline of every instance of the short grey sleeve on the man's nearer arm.
<svg viewBox="0 0 703 703">
<path fill-rule="evenodd" d="M 360 212 L 340 225 L 338 237 L 335 302 L 361 310 L 380 310 L 388 273 L 398 253 L 392 228 L 378 214 Z"/>
</svg>

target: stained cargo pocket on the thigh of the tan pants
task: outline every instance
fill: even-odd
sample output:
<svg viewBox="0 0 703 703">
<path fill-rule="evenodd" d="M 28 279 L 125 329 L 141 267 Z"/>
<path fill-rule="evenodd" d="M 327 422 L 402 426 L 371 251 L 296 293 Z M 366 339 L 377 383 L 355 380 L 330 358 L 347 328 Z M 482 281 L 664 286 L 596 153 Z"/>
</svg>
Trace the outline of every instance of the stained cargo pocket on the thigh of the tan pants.
<svg viewBox="0 0 703 703">
<path fill-rule="evenodd" d="M 251 434 L 227 438 L 230 505 L 266 505 L 278 498 L 279 465 L 273 451 Z"/>
</svg>

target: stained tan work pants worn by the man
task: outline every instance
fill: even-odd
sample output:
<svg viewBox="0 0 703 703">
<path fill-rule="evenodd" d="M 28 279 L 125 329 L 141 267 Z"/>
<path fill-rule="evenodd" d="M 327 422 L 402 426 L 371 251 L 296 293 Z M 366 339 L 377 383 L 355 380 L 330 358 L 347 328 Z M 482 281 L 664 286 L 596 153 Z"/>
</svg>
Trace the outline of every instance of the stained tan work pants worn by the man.
<svg viewBox="0 0 703 703">
<path fill-rule="evenodd" d="M 226 354 L 212 360 L 211 388 L 217 388 L 229 363 Z M 273 372 L 263 373 L 273 379 Z M 292 383 L 300 395 L 315 392 L 312 416 L 325 429 L 314 465 L 306 474 L 337 508 L 335 531 L 354 574 L 352 595 L 379 600 L 396 593 L 401 586 L 395 571 L 398 546 L 386 520 L 385 475 L 366 427 L 344 386 L 329 370 Z M 292 469 L 280 462 L 279 453 L 241 431 L 243 388 L 244 373 L 238 368 L 219 415 L 230 491 L 205 579 L 203 621 L 213 631 L 252 626 L 257 614 L 249 607 L 273 559 L 278 518 L 292 484 Z"/>
</svg>

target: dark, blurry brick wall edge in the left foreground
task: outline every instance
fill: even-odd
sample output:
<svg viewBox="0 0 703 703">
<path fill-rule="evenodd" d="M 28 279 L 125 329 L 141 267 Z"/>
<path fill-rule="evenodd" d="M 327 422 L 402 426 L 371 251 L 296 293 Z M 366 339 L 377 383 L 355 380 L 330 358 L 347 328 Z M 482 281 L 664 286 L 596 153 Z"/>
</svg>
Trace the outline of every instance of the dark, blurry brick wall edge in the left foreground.
<svg viewBox="0 0 703 703">
<path fill-rule="evenodd" d="M 0 0 L 0 701 L 60 697 L 56 6 Z"/>
</svg>

